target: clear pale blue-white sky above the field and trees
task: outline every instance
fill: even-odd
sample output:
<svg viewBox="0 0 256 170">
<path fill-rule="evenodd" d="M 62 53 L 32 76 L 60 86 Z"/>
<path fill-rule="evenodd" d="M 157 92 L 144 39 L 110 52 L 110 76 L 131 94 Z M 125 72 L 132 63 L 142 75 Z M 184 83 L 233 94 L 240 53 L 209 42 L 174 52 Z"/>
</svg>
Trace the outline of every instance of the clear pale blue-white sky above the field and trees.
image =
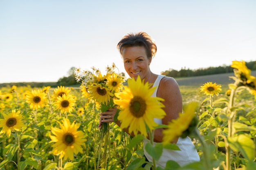
<svg viewBox="0 0 256 170">
<path fill-rule="evenodd" d="M 125 72 L 116 45 L 137 31 L 156 41 L 156 74 L 255 61 L 256 0 L 0 0 L 0 83 Z"/>
</svg>

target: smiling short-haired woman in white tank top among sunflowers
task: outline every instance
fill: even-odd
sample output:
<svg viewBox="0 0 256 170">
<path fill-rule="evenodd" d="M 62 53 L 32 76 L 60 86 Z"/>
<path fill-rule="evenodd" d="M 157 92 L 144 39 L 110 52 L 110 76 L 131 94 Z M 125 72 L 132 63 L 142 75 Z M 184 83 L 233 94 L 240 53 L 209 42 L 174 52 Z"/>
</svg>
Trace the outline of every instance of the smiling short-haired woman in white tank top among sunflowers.
<svg viewBox="0 0 256 170">
<path fill-rule="evenodd" d="M 137 76 L 144 79 L 145 82 L 152 83 L 157 86 L 154 97 L 163 98 L 164 111 L 166 116 L 163 119 L 154 119 L 158 124 L 168 124 L 171 120 L 178 118 L 179 113 L 182 112 L 182 96 L 179 86 L 174 78 L 163 75 L 157 75 L 151 72 L 150 63 L 155 56 L 157 46 L 153 39 L 144 32 L 130 33 L 125 35 L 117 44 L 117 48 L 124 60 L 124 68 L 130 78 L 137 79 Z M 108 111 L 101 113 L 101 122 L 113 122 L 114 116 L 117 112 L 116 108 L 110 108 Z M 115 122 L 118 126 L 120 121 Z M 128 133 L 128 128 L 124 129 Z M 162 142 L 163 129 L 156 129 L 154 134 L 154 142 Z M 133 134 L 130 134 L 133 136 Z M 144 155 L 146 159 L 152 162 L 152 157 L 146 152 L 145 145 L 148 139 L 144 139 Z M 193 161 L 200 161 L 199 155 L 195 146 L 189 137 L 177 138 L 172 141 L 177 144 L 180 150 L 164 149 L 159 161 L 156 161 L 156 166 L 165 168 L 168 160 L 176 161 L 180 166 Z"/>
</svg>

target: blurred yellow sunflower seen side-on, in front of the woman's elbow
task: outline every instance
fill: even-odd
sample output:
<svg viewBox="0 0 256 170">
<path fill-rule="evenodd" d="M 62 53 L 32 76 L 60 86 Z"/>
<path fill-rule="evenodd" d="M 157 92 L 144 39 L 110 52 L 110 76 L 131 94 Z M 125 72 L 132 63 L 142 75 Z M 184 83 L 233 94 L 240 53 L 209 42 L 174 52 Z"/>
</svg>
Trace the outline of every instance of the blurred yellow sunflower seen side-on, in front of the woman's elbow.
<svg viewBox="0 0 256 170">
<path fill-rule="evenodd" d="M 177 119 L 173 119 L 168 123 L 168 128 L 163 130 L 163 143 L 169 143 L 175 138 L 180 137 L 195 117 L 195 109 L 198 106 L 197 102 L 191 102 L 184 110 L 184 113 L 180 113 Z"/>
</svg>

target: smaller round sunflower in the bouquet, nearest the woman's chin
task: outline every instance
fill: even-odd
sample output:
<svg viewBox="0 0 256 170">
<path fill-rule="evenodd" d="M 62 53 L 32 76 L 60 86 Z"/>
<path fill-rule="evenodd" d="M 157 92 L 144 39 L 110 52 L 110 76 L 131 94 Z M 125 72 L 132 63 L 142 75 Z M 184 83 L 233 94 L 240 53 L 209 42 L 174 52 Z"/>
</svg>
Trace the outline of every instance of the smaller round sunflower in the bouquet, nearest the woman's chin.
<svg viewBox="0 0 256 170">
<path fill-rule="evenodd" d="M 119 76 L 117 73 L 112 73 L 107 77 L 107 85 L 111 91 L 120 92 L 122 91 L 125 82 L 124 78 Z"/>
</svg>

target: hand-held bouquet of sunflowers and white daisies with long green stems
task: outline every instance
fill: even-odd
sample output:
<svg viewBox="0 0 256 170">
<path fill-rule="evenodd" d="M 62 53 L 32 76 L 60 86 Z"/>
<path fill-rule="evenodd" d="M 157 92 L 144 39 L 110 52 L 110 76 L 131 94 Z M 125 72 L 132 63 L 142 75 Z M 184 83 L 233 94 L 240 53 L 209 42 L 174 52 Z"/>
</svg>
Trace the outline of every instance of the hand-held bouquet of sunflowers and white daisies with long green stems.
<svg viewBox="0 0 256 170">
<path fill-rule="evenodd" d="M 76 76 L 76 81 L 81 83 L 82 97 L 91 98 L 95 102 L 99 102 L 101 112 L 107 111 L 109 108 L 117 107 L 114 104 L 113 98 L 115 93 L 121 92 L 123 90 L 123 83 L 126 78 L 115 72 L 118 70 L 115 63 L 112 63 L 111 67 L 106 68 L 106 74 L 102 75 L 99 69 L 92 67 L 92 72 L 89 70 L 81 71 L 81 68 L 75 68 L 74 74 Z M 106 146 L 108 146 L 109 140 L 109 123 L 102 122 L 100 130 L 100 142 L 99 150 L 101 144 L 104 141 L 104 165 L 106 166 Z M 99 160 L 100 160 L 99 153 Z M 99 162 L 98 162 L 99 165 Z"/>
</svg>

